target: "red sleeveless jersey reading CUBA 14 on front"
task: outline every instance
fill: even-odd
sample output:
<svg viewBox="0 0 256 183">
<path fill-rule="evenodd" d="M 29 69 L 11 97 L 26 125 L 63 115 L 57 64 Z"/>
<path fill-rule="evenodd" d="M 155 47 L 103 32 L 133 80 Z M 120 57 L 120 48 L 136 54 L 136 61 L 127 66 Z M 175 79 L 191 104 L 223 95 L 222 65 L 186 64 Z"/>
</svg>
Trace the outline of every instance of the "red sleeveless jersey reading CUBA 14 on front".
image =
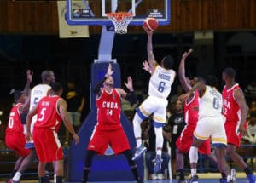
<svg viewBox="0 0 256 183">
<path fill-rule="evenodd" d="M 121 128 L 121 102 L 117 89 L 110 93 L 102 89 L 102 95 L 96 99 L 97 129 L 112 130 Z"/>
</svg>

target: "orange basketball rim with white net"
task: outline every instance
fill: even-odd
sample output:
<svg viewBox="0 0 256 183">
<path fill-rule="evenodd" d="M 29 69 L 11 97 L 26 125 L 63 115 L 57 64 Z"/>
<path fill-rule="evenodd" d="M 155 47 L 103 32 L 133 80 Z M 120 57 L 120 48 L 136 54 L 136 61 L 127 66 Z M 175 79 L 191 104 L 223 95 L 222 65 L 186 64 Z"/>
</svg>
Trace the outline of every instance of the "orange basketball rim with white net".
<svg viewBox="0 0 256 183">
<path fill-rule="evenodd" d="M 126 34 L 133 14 L 127 12 L 107 13 L 108 19 L 113 22 L 114 31 L 118 34 Z"/>
</svg>

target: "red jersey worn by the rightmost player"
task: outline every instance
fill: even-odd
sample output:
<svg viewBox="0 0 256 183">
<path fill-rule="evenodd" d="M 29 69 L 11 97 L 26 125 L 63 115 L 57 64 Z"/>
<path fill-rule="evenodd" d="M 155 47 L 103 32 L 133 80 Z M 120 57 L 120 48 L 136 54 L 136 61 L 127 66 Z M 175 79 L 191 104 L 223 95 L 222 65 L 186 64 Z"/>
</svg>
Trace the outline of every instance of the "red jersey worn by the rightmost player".
<svg viewBox="0 0 256 183">
<path fill-rule="evenodd" d="M 224 86 L 222 92 L 222 114 L 224 115 L 224 117 L 226 117 L 226 123 L 239 123 L 241 120 L 241 109 L 234 96 L 234 92 L 236 89 L 240 89 L 238 83 L 236 83 L 230 89 L 228 89 L 227 86 Z"/>
</svg>

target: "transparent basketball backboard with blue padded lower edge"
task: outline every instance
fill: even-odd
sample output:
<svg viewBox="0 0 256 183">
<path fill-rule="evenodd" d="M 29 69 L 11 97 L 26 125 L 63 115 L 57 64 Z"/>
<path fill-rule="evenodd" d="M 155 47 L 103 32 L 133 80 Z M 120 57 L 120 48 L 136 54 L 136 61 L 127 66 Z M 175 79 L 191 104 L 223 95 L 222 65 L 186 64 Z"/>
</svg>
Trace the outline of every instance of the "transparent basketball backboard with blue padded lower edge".
<svg viewBox="0 0 256 183">
<path fill-rule="evenodd" d="M 113 25 L 106 13 L 130 12 L 129 25 L 143 25 L 152 16 L 160 25 L 171 20 L 171 0 L 67 0 L 66 19 L 69 25 Z"/>
</svg>

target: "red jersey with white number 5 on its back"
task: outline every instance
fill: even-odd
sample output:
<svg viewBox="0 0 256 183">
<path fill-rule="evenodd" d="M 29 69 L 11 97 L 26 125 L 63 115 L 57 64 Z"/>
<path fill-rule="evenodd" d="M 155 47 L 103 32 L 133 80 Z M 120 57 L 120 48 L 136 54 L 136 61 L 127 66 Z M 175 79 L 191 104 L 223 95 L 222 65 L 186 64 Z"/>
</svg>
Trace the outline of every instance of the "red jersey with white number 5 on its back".
<svg viewBox="0 0 256 183">
<path fill-rule="evenodd" d="M 57 110 L 59 96 L 46 96 L 38 102 L 38 121 L 35 128 L 54 129 L 56 132 L 61 126 L 61 115 Z"/>
</svg>

